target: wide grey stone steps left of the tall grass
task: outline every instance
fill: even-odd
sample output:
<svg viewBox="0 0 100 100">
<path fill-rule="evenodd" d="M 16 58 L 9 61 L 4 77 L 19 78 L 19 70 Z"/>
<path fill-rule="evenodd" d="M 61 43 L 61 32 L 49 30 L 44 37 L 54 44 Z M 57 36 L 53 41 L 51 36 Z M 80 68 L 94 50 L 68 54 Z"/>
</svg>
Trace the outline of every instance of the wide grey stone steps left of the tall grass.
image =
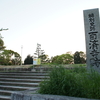
<svg viewBox="0 0 100 100">
<path fill-rule="evenodd" d="M 0 100 L 10 100 L 14 92 L 35 90 L 44 78 L 48 73 L 43 70 L 0 72 Z"/>
</svg>

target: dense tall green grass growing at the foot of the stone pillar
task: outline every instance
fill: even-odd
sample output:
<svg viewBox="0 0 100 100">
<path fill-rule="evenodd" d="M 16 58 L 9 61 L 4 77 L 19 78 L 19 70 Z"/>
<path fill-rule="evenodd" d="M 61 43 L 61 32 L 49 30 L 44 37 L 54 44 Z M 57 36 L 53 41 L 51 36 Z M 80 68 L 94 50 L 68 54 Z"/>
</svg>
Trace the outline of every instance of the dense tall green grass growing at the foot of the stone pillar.
<svg viewBox="0 0 100 100">
<path fill-rule="evenodd" d="M 100 99 L 100 74 L 86 68 L 55 67 L 50 79 L 40 83 L 39 93 Z"/>
</svg>

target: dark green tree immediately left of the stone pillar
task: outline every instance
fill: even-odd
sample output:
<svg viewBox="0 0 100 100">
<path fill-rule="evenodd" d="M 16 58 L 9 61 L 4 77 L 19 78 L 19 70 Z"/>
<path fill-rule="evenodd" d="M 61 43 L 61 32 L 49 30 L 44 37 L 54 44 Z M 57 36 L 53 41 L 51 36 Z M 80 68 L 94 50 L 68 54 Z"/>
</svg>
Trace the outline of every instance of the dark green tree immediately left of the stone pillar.
<svg viewBox="0 0 100 100">
<path fill-rule="evenodd" d="M 84 52 L 80 51 L 76 51 L 74 53 L 74 63 L 75 64 L 82 64 L 82 63 L 86 63 L 86 55 Z"/>
</svg>

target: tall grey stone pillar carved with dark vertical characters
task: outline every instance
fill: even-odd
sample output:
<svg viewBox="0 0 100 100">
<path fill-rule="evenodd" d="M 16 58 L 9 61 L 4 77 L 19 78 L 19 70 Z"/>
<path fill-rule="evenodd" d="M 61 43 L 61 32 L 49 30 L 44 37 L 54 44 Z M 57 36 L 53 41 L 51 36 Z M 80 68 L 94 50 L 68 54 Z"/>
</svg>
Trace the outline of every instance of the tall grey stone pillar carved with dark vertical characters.
<svg viewBox="0 0 100 100">
<path fill-rule="evenodd" d="M 99 9 L 84 10 L 87 68 L 100 72 Z"/>
</svg>

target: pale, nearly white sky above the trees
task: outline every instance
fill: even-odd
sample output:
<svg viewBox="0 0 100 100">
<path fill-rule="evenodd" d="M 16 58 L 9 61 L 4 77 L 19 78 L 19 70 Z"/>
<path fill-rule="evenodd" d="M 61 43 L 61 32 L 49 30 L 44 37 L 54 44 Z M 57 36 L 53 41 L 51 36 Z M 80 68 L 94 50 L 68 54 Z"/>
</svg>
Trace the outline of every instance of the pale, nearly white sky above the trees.
<svg viewBox="0 0 100 100">
<path fill-rule="evenodd" d="M 83 10 L 100 8 L 100 0 L 0 0 L 0 32 L 6 49 L 26 58 L 37 43 L 45 54 L 85 52 Z"/>
</svg>

